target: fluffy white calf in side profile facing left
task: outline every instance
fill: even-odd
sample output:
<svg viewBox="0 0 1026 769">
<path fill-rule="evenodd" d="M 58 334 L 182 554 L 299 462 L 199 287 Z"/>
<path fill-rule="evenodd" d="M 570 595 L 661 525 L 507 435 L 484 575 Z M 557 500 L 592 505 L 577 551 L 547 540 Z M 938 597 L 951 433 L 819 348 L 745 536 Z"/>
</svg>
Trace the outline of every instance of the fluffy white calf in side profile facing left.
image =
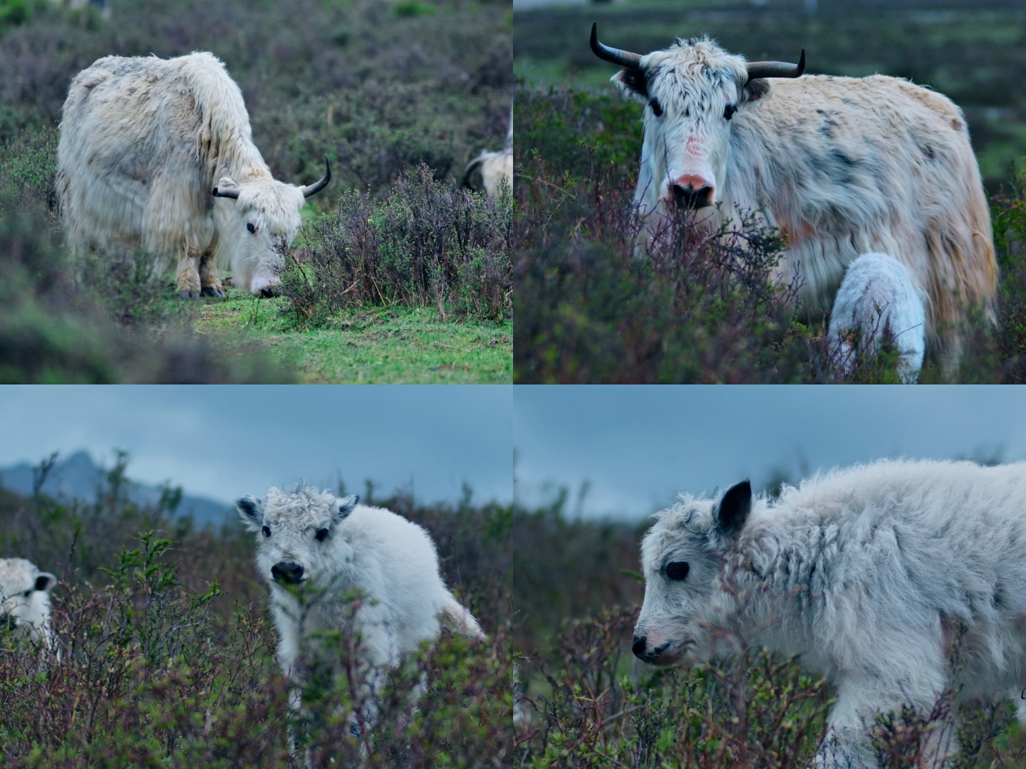
<svg viewBox="0 0 1026 769">
<path fill-rule="evenodd" d="M 634 653 L 699 662 L 733 636 L 798 655 L 836 691 L 819 766 L 875 767 L 866 727 L 903 704 L 1026 686 L 1026 462 L 876 461 L 776 499 L 746 481 L 656 519 Z"/>
</svg>

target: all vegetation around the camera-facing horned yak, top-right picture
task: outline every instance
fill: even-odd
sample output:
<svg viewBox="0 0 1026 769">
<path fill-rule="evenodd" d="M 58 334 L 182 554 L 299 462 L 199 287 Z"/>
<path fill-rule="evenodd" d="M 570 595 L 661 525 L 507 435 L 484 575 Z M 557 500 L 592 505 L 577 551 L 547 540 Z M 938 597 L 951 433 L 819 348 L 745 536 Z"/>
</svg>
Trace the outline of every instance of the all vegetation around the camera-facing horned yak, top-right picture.
<svg viewBox="0 0 1026 769">
<path fill-rule="evenodd" d="M 733 260 L 731 248 L 686 244 L 631 258 L 641 108 L 608 84 L 616 68 L 588 46 L 593 21 L 604 42 L 628 50 L 708 33 L 750 58 L 795 60 L 805 48 L 811 73 L 880 72 L 953 98 L 985 177 L 1000 268 L 997 324 L 974 319 L 963 330 L 958 381 L 1024 380 L 1026 103 L 1005 78 L 1026 57 L 1026 10 L 941 0 L 819 5 L 816 14 L 800 2 L 728 0 L 517 11 L 517 382 L 898 381 L 886 343 L 851 372 L 831 366 L 825 321 L 803 318 L 796 287 L 770 279 L 784 247 L 772 231 L 751 232 L 757 246 Z M 919 381 L 942 380 L 928 358 Z"/>
</svg>

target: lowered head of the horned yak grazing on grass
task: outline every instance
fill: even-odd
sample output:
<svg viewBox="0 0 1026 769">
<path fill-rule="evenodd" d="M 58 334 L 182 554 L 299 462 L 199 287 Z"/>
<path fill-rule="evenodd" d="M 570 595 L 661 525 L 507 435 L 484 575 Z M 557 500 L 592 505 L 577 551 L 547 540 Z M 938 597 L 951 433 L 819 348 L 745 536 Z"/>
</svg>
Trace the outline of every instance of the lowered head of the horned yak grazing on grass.
<svg viewBox="0 0 1026 769">
<path fill-rule="evenodd" d="M 303 224 L 300 209 L 331 180 L 324 158 L 324 176 L 308 187 L 286 185 L 268 175 L 246 181 L 222 176 L 211 195 L 227 198 L 215 208 L 218 247 L 232 266 L 232 280 L 241 290 L 270 296 L 284 266 L 284 254 Z M 234 201 L 234 202 L 230 202 Z"/>
</svg>

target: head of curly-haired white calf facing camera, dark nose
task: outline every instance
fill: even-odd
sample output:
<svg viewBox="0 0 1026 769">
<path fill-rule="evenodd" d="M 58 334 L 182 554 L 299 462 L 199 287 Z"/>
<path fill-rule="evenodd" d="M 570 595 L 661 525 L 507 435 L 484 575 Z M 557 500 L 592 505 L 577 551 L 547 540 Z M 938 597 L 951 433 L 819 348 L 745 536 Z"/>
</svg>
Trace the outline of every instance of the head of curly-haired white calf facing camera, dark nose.
<svg viewBox="0 0 1026 769">
<path fill-rule="evenodd" d="M 306 582 L 330 586 L 340 564 L 351 560 L 351 545 L 339 525 L 360 501 L 300 485 L 268 489 L 264 499 L 236 502 L 243 525 L 256 534 L 256 568 L 272 590 Z"/>
</svg>

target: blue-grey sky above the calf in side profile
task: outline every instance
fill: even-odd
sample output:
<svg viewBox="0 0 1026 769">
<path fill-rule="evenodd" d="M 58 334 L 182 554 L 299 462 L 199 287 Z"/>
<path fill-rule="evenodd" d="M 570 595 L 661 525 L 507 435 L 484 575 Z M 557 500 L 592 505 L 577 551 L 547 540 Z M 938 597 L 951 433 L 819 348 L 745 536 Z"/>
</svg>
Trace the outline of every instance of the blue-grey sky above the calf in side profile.
<svg viewBox="0 0 1026 769">
<path fill-rule="evenodd" d="M 677 491 L 883 456 L 1026 457 L 1026 387 L 517 387 L 518 498 L 560 485 L 586 516 L 640 518 Z"/>
</svg>

